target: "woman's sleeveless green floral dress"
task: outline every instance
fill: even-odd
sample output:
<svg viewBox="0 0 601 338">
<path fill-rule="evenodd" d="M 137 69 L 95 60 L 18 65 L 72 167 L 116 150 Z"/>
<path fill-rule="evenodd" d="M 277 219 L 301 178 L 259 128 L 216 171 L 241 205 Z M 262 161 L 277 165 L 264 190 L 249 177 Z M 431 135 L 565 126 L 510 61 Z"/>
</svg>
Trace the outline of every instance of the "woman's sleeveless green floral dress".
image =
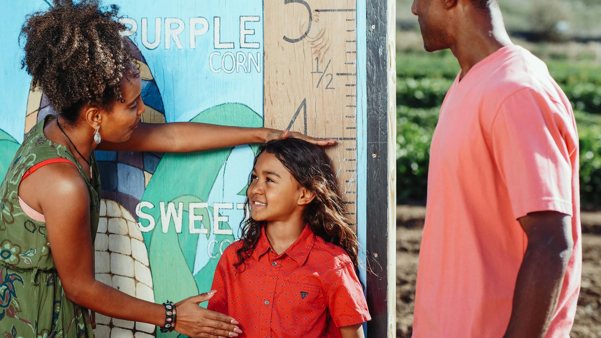
<svg viewBox="0 0 601 338">
<path fill-rule="evenodd" d="M 48 115 L 29 131 L 0 187 L 0 337 L 93 337 L 90 312 L 65 297 L 50 252 L 46 223 L 28 217 L 17 192 L 27 169 L 49 158 L 67 158 L 88 182 L 66 146 L 44 136 Z M 100 177 L 92 155 L 94 186 L 90 193 L 90 232 L 96 237 L 100 208 Z M 49 192 L 40 192 L 49 193 Z M 69 212 L 66 206 L 65 213 Z M 65 245 L 70 245 L 65 243 Z"/>
</svg>

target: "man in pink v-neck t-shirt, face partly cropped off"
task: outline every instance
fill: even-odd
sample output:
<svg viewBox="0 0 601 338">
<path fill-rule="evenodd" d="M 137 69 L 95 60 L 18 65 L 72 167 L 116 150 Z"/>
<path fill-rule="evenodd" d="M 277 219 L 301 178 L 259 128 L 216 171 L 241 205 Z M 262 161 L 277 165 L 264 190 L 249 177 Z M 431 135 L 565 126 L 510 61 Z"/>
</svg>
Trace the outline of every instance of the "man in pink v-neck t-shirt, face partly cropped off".
<svg viewBox="0 0 601 338">
<path fill-rule="evenodd" d="M 567 338 L 581 275 L 578 134 L 496 0 L 415 0 L 461 72 L 430 150 L 414 338 Z"/>
</svg>

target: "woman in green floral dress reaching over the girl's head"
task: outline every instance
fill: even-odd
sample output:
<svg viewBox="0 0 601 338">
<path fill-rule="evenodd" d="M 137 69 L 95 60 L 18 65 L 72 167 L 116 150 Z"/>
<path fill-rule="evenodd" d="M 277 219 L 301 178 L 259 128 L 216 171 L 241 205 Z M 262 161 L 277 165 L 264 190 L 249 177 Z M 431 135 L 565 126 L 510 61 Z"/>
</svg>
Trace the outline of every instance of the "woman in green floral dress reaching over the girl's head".
<svg viewBox="0 0 601 338">
<path fill-rule="evenodd" d="M 100 177 L 93 152 L 201 151 L 289 135 L 319 145 L 334 140 L 267 128 L 140 123 L 141 79 L 117 13 L 93 0 L 54 0 L 23 25 L 23 67 L 59 113 L 26 135 L 0 187 L 0 327 L 4 337 L 91 337 L 89 309 L 191 337 L 237 336 L 234 318 L 198 306 L 214 292 L 154 304 L 94 280 Z"/>
</svg>

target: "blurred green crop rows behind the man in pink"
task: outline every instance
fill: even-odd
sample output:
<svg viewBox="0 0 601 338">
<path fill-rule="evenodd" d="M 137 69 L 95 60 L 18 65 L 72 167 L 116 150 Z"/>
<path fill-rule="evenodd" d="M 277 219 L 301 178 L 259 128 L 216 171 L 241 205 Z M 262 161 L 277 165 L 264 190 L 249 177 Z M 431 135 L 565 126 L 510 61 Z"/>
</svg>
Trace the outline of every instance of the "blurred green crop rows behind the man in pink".
<svg viewBox="0 0 601 338">
<path fill-rule="evenodd" d="M 601 208 L 601 67 L 546 61 L 575 110 L 580 137 L 581 204 Z M 448 52 L 397 56 L 397 202 L 424 204 L 430 140 L 440 106 L 459 71 Z"/>
</svg>

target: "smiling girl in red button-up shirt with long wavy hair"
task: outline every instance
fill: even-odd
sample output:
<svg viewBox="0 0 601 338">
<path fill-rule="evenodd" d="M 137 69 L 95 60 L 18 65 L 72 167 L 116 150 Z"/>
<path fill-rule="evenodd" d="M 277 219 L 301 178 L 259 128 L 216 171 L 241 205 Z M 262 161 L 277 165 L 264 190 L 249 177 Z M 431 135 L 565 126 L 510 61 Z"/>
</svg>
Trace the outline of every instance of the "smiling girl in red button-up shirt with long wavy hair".
<svg viewBox="0 0 601 338">
<path fill-rule="evenodd" d="M 219 260 L 209 309 L 243 319 L 244 337 L 363 337 L 370 314 L 358 243 L 323 149 L 272 140 L 255 158 L 242 239 Z"/>
</svg>

